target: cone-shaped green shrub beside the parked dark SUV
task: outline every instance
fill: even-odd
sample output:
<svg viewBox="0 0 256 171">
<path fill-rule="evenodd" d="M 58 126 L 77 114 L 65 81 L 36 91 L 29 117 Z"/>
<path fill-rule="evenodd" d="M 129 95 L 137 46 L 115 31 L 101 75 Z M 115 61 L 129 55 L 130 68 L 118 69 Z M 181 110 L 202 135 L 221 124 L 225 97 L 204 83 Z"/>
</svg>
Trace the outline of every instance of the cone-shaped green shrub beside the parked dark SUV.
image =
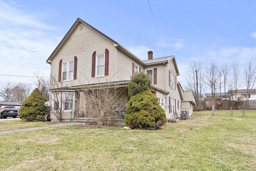
<svg viewBox="0 0 256 171">
<path fill-rule="evenodd" d="M 41 91 L 36 88 L 34 91 L 24 100 L 19 109 L 20 119 L 25 119 L 26 121 L 32 121 L 37 119 L 40 121 L 45 121 L 45 105 L 46 99 L 42 95 Z"/>
</svg>

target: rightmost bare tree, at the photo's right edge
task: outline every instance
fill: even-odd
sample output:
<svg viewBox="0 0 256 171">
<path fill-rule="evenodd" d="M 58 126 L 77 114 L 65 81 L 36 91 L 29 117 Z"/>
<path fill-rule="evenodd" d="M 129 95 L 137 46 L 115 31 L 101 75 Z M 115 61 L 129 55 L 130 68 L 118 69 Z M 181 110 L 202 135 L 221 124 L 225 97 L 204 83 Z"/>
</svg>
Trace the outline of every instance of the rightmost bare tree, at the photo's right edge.
<svg viewBox="0 0 256 171">
<path fill-rule="evenodd" d="M 244 76 L 242 78 L 246 86 L 246 108 L 248 108 L 250 92 L 256 83 L 256 66 L 252 59 L 250 59 L 248 65 L 245 66 Z"/>
</svg>

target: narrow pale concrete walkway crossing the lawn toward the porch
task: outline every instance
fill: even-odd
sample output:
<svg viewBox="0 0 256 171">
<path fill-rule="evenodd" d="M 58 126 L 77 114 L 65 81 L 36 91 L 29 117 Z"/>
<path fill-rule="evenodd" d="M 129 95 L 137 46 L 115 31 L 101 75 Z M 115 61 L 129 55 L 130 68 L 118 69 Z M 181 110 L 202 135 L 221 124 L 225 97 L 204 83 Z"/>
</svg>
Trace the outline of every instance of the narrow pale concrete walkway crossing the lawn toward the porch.
<svg viewBox="0 0 256 171">
<path fill-rule="evenodd" d="M 8 131 L 0 131 L 0 135 L 6 134 L 6 133 L 16 133 L 16 132 L 24 132 L 24 131 L 32 131 L 37 129 L 46 129 L 50 127 L 65 127 L 65 126 L 74 126 L 74 125 L 84 125 L 83 122 L 71 122 L 71 123 L 60 123 L 56 125 L 50 125 L 50 126 L 44 126 L 44 127 L 34 127 L 34 128 L 24 128 L 24 129 L 13 129 Z"/>
</svg>

